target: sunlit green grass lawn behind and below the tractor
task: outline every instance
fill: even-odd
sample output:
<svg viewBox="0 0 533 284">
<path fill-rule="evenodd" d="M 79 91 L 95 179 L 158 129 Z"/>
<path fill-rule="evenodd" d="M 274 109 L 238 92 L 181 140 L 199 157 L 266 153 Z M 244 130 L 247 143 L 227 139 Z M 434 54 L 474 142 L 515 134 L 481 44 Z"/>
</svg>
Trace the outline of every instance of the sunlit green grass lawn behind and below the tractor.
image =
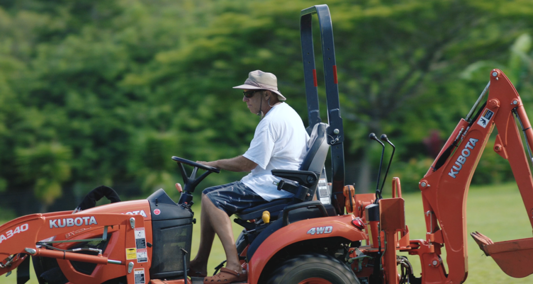
<svg viewBox="0 0 533 284">
<path fill-rule="evenodd" d="M 405 194 L 403 198 L 406 200 L 406 223 L 409 226 L 411 239 L 425 239 L 425 223 L 420 194 Z M 193 210 L 198 222 L 193 231 L 192 257 L 195 256 L 200 241 L 199 220 L 201 212 L 199 204 L 193 206 Z M 524 209 L 518 188 L 514 184 L 471 187 L 467 205 L 467 223 L 469 233 L 479 231 L 495 242 L 531 237 L 531 225 L 528 221 L 528 215 Z M 233 233 L 236 238 L 240 231 L 240 226 L 233 224 Z M 533 275 L 521 279 L 511 278 L 506 275 L 491 257 L 483 255 L 483 252 L 470 236 L 468 251 L 469 276 L 466 279 L 466 283 L 533 283 Z M 215 238 L 211 257 L 209 258 L 209 274 L 212 274 L 215 266 L 223 260 L 225 260 L 224 250 L 220 240 Z M 446 256 L 443 256 L 443 260 L 446 260 Z M 418 276 L 421 272 L 418 257 L 409 256 L 409 261 L 414 266 L 415 275 Z M 31 270 L 33 273 L 33 268 Z M 0 283 L 17 283 L 16 273 L 13 273 L 8 278 L 2 275 Z M 28 283 L 37 284 L 34 274 L 31 275 L 31 280 Z"/>
</svg>

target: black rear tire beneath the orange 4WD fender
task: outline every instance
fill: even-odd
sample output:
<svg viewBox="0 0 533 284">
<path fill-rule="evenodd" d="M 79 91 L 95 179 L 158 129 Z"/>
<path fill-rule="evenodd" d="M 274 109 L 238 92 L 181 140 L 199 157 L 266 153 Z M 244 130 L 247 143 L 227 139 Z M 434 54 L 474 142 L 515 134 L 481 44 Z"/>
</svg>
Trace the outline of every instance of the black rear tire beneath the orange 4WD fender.
<svg viewBox="0 0 533 284">
<path fill-rule="evenodd" d="M 274 270 L 267 284 L 360 284 L 351 268 L 322 254 L 298 255 Z"/>
</svg>

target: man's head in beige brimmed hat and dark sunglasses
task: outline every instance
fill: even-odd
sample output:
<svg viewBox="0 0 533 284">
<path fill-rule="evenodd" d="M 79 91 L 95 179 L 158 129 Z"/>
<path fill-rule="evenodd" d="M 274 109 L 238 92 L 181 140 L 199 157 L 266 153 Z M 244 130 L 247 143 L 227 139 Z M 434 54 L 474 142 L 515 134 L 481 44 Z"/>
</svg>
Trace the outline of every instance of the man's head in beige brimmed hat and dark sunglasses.
<svg viewBox="0 0 533 284">
<path fill-rule="evenodd" d="M 278 90 L 278 80 L 272 73 L 255 70 L 248 73 L 248 79 L 243 85 L 233 87 L 243 89 L 243 102 L 252 113 L 266 113 L 270 107 L 286 98 Z M 266 108 L 266 109 L 263 109 Z"/>
</svg>

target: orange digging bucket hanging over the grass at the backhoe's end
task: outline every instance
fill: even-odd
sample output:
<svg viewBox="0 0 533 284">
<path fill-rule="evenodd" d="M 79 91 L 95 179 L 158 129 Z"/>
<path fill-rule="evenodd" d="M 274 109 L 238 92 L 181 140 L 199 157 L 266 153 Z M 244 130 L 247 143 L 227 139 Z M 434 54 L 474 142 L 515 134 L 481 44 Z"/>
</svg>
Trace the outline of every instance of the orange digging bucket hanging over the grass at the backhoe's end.
<svg viewBox="0 0 533 284">
<path fill-rule="evenodd" d="M 470 234 L 479 248 L 498 264 L 500 269 L 514 278 L 533 274 L 533 238 L 498 241 L 494 243 L 482 233 Z"/>
</svg>

